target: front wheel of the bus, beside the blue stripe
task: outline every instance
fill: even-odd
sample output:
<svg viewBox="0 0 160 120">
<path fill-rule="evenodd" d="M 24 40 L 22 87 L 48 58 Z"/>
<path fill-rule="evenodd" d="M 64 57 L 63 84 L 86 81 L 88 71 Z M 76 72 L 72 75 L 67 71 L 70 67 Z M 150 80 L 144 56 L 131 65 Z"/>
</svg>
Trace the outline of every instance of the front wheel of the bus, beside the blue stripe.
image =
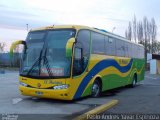
<svg viewBox="0 0 160 120">
<path fill-rule="evenodd" d="M 100 86 L 100 82 L 98 80 L 95 80 L 92 86 L 92 93 L 91 96 L 92 97 L 99 97 L 101 93 L 101 86 Z"/>
</svg>

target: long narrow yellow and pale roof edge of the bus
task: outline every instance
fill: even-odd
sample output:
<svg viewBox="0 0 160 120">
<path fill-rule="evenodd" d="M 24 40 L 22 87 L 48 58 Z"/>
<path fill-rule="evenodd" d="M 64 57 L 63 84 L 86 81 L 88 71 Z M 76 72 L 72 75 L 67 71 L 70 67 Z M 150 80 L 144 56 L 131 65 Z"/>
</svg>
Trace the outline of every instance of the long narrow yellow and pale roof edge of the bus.
<svg viewBox="0 0 160 120">
<path fill-rule="evenodd" d="M 101 34 L 105 34 L 105 35 L 113 37 L 113 38 L 117 38 L 117 39 L 129 42 L 129 43 L 136 44 L 136 45 L 144 47 L 143 45 L 134 43 L 132 41 L 129 41 L 125 37 L 122 37 L 120 35 L 113 34 L 111 32 L 103 30 L 103 29 L 92 28 L 92 27 L 83 26 L 83 25 L 53 25 L 53 26 L 41 27 L 41 28 L 37 28 L 37 29 L 31 29 L 30 31 L 52 30 L 52 29 L 62 29 L 62 28 L 73 28 L 73 29 L 76 29 L 76 30 L 89 29 L 89 30 L 92 30 L 92 31 L 95 31 L 95 32 L 98 32 L 98 33 L 101 33 Z"/>
</svg>

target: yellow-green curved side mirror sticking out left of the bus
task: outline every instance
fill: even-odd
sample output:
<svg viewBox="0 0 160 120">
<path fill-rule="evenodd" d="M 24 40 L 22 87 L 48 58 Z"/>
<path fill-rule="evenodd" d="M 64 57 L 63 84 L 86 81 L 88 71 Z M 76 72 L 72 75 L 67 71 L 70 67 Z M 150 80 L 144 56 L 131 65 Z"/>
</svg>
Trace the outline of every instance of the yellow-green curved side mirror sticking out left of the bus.
<svg viewBox="0 0 160 120">
<path fill-rule="evenodd" d="M 13 57 L 13 50 L 16 48 L 17 45 L 22 44 L 24 45 L 25 49 L 27 49 L 26 41 L 23 40 L 18 40 L 16 42 L 13 42 L 11 47 L 10 47 L 10 57 Z"/>
</svg>

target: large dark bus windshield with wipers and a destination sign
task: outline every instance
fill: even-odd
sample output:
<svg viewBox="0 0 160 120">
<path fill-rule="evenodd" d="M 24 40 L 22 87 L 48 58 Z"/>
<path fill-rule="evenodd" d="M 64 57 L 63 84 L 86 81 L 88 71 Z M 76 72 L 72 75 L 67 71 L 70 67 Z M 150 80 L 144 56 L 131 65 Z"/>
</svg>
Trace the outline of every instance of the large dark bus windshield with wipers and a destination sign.
<svg viewBox="0 0 160 120">
<path fill-rule="evenodd" d="M 67 41 L 75 37 L 73 29 L 30 32 L 21 65 L 22 76 L 69 77 L 71 58 L 66 57 Z"/>
</svg>

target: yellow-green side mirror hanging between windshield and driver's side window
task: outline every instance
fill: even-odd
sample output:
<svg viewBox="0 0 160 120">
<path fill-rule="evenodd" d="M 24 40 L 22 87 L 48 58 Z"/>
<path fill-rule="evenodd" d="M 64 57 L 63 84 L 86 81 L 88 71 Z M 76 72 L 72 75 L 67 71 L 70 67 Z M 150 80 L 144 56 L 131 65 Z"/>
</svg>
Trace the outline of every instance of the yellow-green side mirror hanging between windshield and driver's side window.
<svg viewBox="0 0 160 120">
<path fill-rule="evenodd" d="M 70 38 L 66 44 L 66 57 L 72 57 L 73 44 L 75 43 L 75 38 Z"/>
</svg>

